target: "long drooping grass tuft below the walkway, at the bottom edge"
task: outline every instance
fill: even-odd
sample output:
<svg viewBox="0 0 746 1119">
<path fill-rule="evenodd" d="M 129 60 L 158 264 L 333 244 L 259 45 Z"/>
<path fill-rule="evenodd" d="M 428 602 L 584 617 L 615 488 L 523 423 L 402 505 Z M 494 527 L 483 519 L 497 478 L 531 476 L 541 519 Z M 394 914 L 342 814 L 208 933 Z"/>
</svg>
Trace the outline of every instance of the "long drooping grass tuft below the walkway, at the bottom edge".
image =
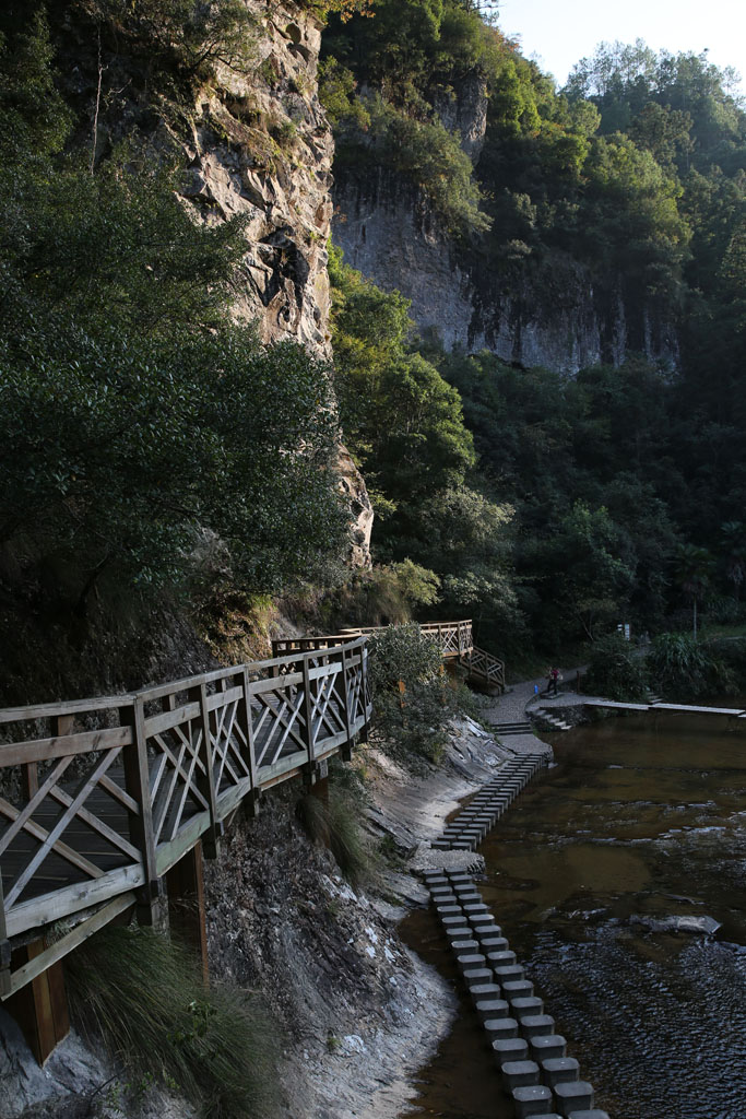
<svg viewBox="0 0 746 1119">
<path fill-rule="evenodd" d="M 258 998 L 209 988 L 197 961 L 143 928 L 110 928 L 66 960 L 73 1010 L 85 1033 L 138 1075 L 179 1091 L 205 1119 L 275 1110 L 276 1027 Z"/>
</svg>

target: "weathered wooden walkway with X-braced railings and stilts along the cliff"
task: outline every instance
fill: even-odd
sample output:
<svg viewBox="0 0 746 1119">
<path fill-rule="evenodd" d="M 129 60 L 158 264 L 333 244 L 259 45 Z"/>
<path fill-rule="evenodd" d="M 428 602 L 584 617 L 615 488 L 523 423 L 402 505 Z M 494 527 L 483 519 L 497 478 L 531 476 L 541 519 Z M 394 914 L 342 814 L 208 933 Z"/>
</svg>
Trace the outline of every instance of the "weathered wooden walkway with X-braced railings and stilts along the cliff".
<svg viewBox="0 0 746 1119">
<path fill-rule="evenodd" d="M 503 686 L 470 621 L 423 629 Z M 312 786 L 330 756 L 349 760 L 371 715 L 374 632 L 276 641 L 271 660 L 133 694 L 0 709 L 0 999 L 40 1061 L 68 1028 L 60 961 L 111 921 L 170 919 L 206 961 L 202 852 L 215 857 L 226 822 L 264 790 L 295 775 Z M 188 927 L 185 899 L 199 911 Z"/>
</svg>

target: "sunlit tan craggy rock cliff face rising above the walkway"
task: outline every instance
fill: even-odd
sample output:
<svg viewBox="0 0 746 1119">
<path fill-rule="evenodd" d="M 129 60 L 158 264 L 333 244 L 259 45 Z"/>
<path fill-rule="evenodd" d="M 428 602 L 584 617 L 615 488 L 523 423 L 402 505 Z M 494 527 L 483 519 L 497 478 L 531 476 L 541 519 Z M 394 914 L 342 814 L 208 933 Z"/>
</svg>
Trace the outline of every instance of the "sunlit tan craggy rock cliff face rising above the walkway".
<svg viewBox="0 0 746 1119">
<path fill-rule="evenodd" d="M 292 339 L 331 357 L 327 242 L 333 139 L 319 102 L 321 26 L 293 4 L 249 0 L 258 31 L 253 72 L 224 67 L 195 106 L 185 199 L 206 222 L 246 219 L 247 251 L 235 313 L 264 341 Z M 340 450 L 340 487 L 352 516 L 351 561 L 370 565 L 372 507 Z"/>
</svg>

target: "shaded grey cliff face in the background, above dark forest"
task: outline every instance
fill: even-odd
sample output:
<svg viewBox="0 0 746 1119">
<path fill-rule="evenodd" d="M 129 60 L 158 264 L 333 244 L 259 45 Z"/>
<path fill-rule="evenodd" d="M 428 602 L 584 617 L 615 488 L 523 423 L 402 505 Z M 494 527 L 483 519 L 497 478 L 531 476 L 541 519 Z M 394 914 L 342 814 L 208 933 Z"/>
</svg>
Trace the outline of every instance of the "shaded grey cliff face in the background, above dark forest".
<svg viewBox="0 0 746 1119">
<path fill-rule="evenodd" d="M 484 87 L 464 81 L 433 102 L 476 163 L 487 128 Z M 402 291 L 419 330 L 446 349 L 488 349 L 506 361 L 567 374 L 601 361 L 620 365 L 631 351 L 678 366 L 670 318 L 621 282 L 602 290 L 566 254 L 538 262 L 512 244 L 492 260 L 459 251 L 423 195 L 394 172 L 363 178 L 346 168 L 333 199 L 334 243 L 347 263 Z"/>
</svg>

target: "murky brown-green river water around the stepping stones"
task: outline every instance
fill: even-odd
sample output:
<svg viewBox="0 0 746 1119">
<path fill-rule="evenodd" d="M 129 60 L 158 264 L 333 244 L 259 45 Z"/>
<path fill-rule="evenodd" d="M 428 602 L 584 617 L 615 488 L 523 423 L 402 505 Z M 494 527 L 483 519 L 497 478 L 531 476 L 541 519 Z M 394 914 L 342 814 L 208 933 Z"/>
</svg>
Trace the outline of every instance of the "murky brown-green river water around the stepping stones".
<svg viewBox="0 0 746 1119">
<path fill-rule="evenodd" d="M 612 1119 L 746 1119 L 746 727 L 633 716 L 554 744 L 480 848 L 484 900 Z M 721 929 L 650 927 L 683 915 Z M 405 924 L 447 968 L 432 914 Z M 433 1115 L 510 1115 L 466 1006 L 407 1112 Z"/>
</svg>

